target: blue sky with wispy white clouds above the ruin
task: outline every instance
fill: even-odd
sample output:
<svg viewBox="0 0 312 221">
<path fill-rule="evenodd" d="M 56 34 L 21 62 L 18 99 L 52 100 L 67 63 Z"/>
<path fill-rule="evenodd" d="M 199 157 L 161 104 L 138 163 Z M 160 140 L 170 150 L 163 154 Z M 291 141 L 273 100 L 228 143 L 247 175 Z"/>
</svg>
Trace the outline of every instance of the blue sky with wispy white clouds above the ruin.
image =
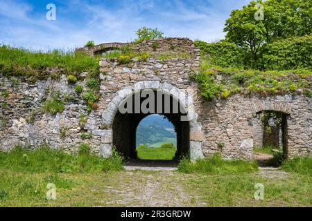
<svg viewBox="0 0 312 221">
<path fill-rule="evenodd" d="M 92 39 L 127 42 L 143 26 L 165 37 L 223 39 L 229 13 L 249 0 L 0 0 L 0 43 L 25 48 L 74 48 Z M 46 5 L 56 21 L 46 20 Z"/>
</svg>

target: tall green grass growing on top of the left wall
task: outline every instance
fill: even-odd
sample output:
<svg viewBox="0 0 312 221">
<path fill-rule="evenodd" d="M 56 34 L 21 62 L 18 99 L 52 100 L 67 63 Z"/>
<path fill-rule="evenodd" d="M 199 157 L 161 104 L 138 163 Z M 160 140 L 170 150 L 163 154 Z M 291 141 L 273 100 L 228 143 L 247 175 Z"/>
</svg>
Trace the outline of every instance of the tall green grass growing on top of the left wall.
<svg viewBox="0 0 312 221">
<path fill-rule="evenodd" d="M 48 71 L 48 69 L 50 69 Z M 26 50 L 0 45 L 0 74 L 45 79 L 59 72 L 77 75 L 82 72 L 98 73 L 98 58 L 75 50 Z"/>
</svg>

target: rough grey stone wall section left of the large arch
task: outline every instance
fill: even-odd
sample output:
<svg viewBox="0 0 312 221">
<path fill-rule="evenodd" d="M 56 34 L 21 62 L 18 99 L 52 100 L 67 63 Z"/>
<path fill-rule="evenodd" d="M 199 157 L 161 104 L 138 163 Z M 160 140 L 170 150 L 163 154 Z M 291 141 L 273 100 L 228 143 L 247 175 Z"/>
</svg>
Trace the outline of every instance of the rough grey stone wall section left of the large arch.
<svg viewBox="0 0 312 221">
<path fill-rule="evenodd" d="M 85 86 L 85 80 L 78 84 Z M 89 143 L 92 151 L 98 152 L 101 142 L 99 135 L 94 134 L 92 140 L 82 140 L 80 137 L 87 132 L 79 124 L 80 116 L 87 115 L 87 110 L 73 87 L 67 84 L 64 75 L 58 81 L 47 79 L 35 84 L 0 75 L 0 93 L 8 93 L 8 97 L 0 95 L 0 148 L 9 150 L 17 144 L 31 147 L 46 144 L 51 148 L 76 151 L 80 143 Z M 42 103 L 51 91 L 60 91 L 62 97 L 71 95 L 62 113 L 42 113 Z M 65 128 L 65 137 L 60 135 L 61 128 Z"/>
</svg>

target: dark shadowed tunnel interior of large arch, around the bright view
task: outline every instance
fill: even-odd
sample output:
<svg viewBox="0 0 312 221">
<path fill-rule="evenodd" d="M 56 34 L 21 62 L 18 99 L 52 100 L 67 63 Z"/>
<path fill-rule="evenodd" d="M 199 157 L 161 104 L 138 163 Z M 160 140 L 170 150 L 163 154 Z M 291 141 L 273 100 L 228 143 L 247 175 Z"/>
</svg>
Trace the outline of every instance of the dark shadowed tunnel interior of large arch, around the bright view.
<svg viewBox="0 0 312 221">
<path fill-rule="evenodd" d="M 156 90 L 155 93 L 155 109 L 157 109 L 157 104 L 159 105 L 159 101 L 157 102 L 157 96 L 156 96 Z M 159 91 L 157 91 L 159 93 Z M 116 146 L 119 153 L 121 153 L 124 157 L 137 159 L 137 151 L 136 151 L 136 130 L 137 126 L 139 125 L 139 122 L 141 122 L 141 119 L 144 117 L 154 114 L 154 113 L 142 113 L 140 110 L 139 113 L 135 113 L 135 95 L 132 95 L 132 102 L 128 102 L 128 104 L 132 104 L 132 113 L 121 113 L 120 111 L 117 111 L 114 122 L 112 125 L 113 130 L 113 144 Z M 139 104 L 141 105 L 142 102 L 144 102 L 145 99 L 148 97 L 141 97 L 139 96 Z M 129 97 L 128 97 L 129 99 Z M 130 99 L 131 100 L 131 99 Z M 175 132 L 177 133 L 177 152 L 175 154 L 175 158 L 179 158 L 184 155 L 189 154 L 189 122 L 187 121 L 181 121 L 181 116 L 185 115 L 183 114 L 183 111 L 180 110 L 175 113 L 173 111 L 173 102 L 176 102 L 176 100 L 173 99 L 173 97 L 170 97 L 170 111 L 167 110 L 168 113 L 165 113 L 165 100 L 162 100 L 162 110 L 157 111 L 155 110 L 155 113 L 164 115 L 167 117 L 168 121 L 170 121 L 173 126 L 175 127 Z M 128 106 L 126 104 L 126 106 Z M 138 111 L 137 111 L 138 112 Z M 160 113 L 162 112 L 162 113 Z"/>
</svg>

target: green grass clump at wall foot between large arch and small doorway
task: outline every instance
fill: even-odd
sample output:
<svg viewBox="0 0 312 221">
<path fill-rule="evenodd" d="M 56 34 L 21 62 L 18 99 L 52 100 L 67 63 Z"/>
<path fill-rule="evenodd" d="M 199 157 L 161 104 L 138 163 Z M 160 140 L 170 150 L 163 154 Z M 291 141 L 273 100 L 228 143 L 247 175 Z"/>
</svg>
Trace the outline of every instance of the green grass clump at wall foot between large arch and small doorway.
<svg viewBox="0 0 312 221">
<path fill-rule="evenodd" d="M 223 160 L 220 154 L 191 162 L 184 158 L 177 166 L 182 173 L 235 174 L 251 173 L 258 170 L 257 162 L 244 160 Z"/>
</svg>

